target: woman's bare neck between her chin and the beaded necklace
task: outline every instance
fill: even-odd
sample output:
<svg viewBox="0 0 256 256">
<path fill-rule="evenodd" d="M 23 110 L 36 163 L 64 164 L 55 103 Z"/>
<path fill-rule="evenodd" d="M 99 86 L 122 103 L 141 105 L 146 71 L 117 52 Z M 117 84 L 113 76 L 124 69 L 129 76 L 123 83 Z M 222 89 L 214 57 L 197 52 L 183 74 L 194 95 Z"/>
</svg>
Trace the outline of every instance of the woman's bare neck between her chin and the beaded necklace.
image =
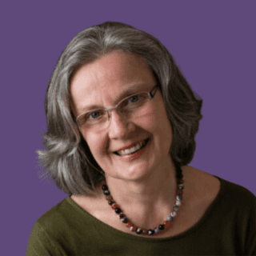
<svg viewBox="0 0 256 256">
<path fill-rule="evenodd" d="M 114 201 L 134 225 L 149 229 L 172 211 L 177 190 L 176 172 L 171 158 L 140 180 L 122 180 L 106 176 Z"/>
</svg>

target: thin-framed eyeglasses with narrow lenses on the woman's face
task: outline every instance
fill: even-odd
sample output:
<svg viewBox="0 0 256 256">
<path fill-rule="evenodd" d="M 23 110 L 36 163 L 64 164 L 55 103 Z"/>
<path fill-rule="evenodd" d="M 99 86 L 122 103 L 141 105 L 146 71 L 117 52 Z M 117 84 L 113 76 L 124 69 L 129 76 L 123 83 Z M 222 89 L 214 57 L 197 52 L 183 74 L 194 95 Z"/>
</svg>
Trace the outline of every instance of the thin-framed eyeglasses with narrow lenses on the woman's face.
<svg viewBox="0 0 256 256">
<path fill-rule="evenodd" d="M 110 110 L 117 109 L 121 115 L 133 116 L 133 118 L 141 117 L 142 115 L 149 114 L 150 100 L 154 98 L 158 91 L 158 85 L 154 86 L 148 92 L 141 92 L 138 94 L 131 95 L 122 99 L 118 105 L 110 107 L 109 109 L 98 109 L 90 110 L 86 113 L 78 115 L 76 122 L 78 126 L 90 128 L 94 127 L 97 129 L 106 129 L 110 120 Z"/>
</svg>

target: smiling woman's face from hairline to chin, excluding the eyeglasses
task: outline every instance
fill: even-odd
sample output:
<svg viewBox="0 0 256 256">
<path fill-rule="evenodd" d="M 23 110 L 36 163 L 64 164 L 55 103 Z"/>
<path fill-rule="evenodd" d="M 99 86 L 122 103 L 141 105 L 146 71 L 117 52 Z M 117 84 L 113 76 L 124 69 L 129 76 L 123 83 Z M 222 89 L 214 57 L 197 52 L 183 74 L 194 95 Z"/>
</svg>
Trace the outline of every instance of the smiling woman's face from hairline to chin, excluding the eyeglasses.
<svg viewBox="0 0 256 256">
<path fill-rule="evenodd" d="M 70 84 L 75 117 L 95 106 L 116 106 L 123 98 L 156 85 L 150 68 L 142 58 L 114 51 L 82 66 Z M 90 108 L 91 107 L 91 108 Z M 79 127 L 91 153 L 106 176 L 126 180 L 145 178 L 170 160 L 172 130 L 160 90 L 150 100 L 146 114 L 127 118 L 116 109 L 110 110 L 106 129 Z M 126 147 L 147 142 L 142 149 L 124 154 Z M 133 149 L 135 150 L 135 148 Z M 117 152 L 118 151 L 118 152 Z"/>
</svg>

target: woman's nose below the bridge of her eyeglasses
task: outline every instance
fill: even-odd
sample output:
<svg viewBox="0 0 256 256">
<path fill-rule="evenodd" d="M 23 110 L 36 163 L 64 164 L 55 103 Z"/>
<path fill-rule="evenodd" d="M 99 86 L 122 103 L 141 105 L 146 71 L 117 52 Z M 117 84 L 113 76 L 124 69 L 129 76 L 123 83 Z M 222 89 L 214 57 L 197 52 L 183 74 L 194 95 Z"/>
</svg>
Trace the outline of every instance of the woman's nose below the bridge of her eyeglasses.
<svg viewBox="0 0 256 256">
<path fill-rule="evenodd" d="M 110 113 L 111 112 L 111 113 Z M 109 137 L 112 139 L 126 138 L 134 130 L 134 124 L 116 110 L 109 112 Z"/>
</svg>

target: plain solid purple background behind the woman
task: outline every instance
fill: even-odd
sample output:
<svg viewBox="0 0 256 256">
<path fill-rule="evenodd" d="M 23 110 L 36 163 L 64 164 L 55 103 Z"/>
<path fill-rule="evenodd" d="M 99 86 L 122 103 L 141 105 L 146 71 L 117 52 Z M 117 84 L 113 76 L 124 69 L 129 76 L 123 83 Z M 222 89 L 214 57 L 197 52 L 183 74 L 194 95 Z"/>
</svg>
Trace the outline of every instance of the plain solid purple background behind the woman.
<svg viewBox="0 0 256 256">
<path fill-rule="evenodd" d="M 203 98 L 190 166 L 256 194 L 255 7 L 227 0 L 0 4 L 2 255 L 24 255 L 34 222 L 67 196 L 37 176 L 46 86 L 71 38 L 108 20 L 158 38 Z"/>
</svg>

